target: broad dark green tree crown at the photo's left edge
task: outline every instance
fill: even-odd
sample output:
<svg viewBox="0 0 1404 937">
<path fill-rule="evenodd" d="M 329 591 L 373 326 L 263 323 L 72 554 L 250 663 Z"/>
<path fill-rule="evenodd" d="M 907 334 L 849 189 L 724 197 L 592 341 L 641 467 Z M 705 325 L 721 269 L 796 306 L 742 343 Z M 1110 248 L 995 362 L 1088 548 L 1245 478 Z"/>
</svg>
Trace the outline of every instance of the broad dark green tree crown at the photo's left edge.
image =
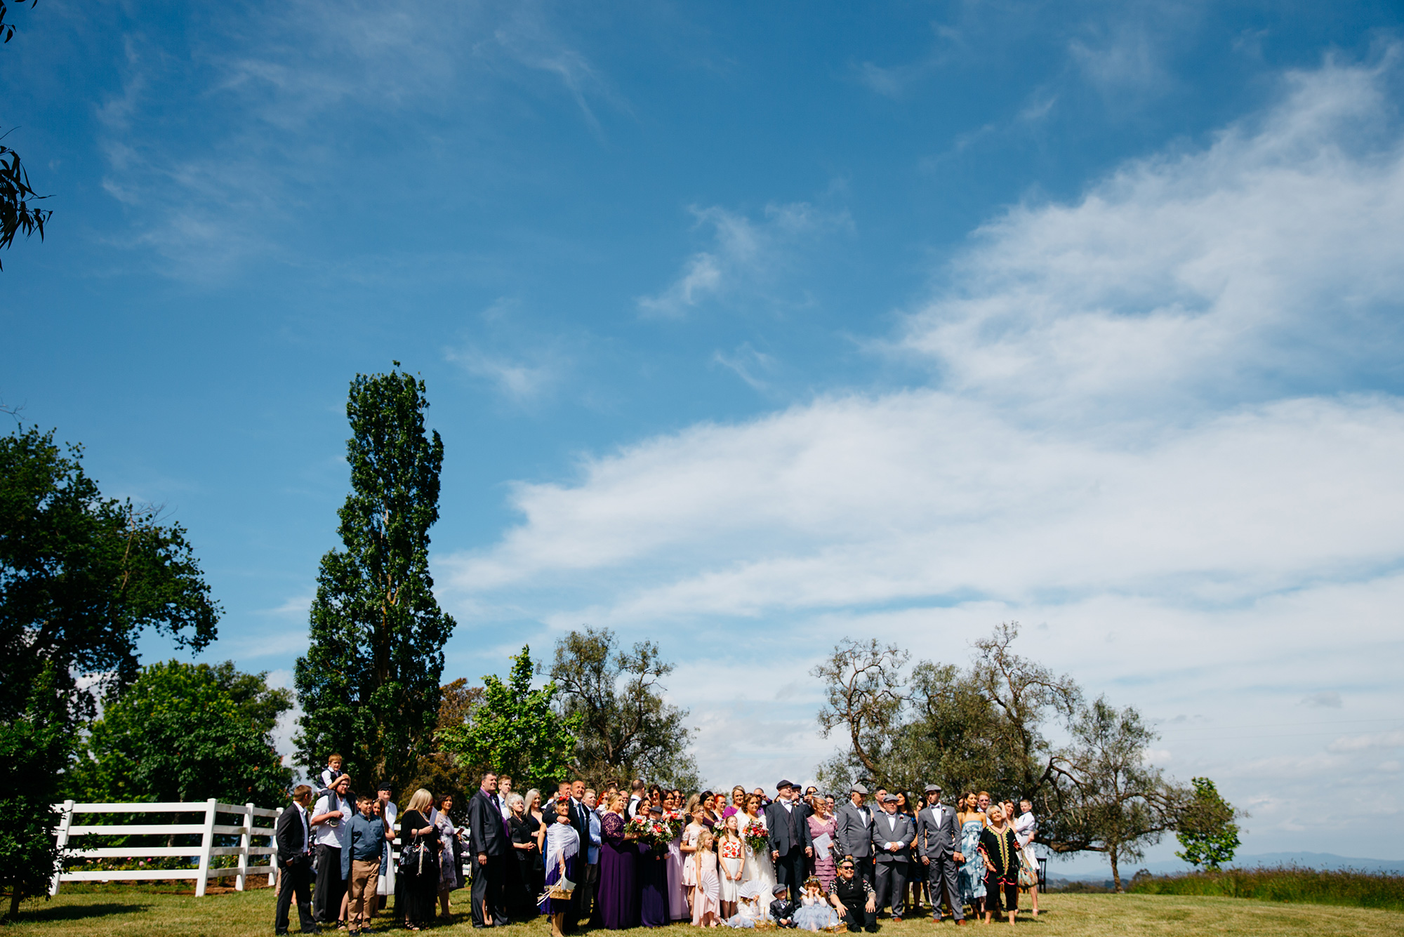
<svg viewBox="0 0 1404 937">
<path fill-rule="evenodd" d="M 51 663 L 77 715 L 136 678 L 136 637 L 154 628 L 192 651 L 219 606 L 180 525 L 104 498 L 53 432 L 0 439 L 0 722 L 18 718 Z M 86 689 L 77 676 L 95 678 Z"/>
</svg>

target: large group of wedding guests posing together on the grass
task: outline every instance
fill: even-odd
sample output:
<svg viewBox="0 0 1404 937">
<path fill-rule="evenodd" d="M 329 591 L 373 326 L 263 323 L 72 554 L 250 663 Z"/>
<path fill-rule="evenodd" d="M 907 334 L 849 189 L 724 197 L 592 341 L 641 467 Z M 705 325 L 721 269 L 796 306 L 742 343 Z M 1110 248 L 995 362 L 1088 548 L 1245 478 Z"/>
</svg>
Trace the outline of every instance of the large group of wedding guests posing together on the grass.
<svg viewBox="0 0 1404 937">
<path fill-rule="evenodd" d="M 468 882 L 473 927 L 545 916 L 552 937 L 677 922 L 869 933 L 885 917 L 1012 924 L 1021 891 L 1038 915 L 1032 808 L 984 791 L 953 804 L 936 784 L 920 802 L 863 784 L 840 801 L 788 780 L 774 798 L 741 786 L 685 795 L 642 780 L 518 793 L 511 777 L 487 773 L 456 828 L 452 798 L 425 790 L 403 812 L 388 786 L 352 808 L 338 770 L 329 764 L 316 805 L 299 787 L 278 821 L 279 934 L 293 895 L 303 931 L 371 930 L 390 896 L 392 924 L 418 930 L 437 903 L 446 917 L 449 892 Z"/>
</svg>

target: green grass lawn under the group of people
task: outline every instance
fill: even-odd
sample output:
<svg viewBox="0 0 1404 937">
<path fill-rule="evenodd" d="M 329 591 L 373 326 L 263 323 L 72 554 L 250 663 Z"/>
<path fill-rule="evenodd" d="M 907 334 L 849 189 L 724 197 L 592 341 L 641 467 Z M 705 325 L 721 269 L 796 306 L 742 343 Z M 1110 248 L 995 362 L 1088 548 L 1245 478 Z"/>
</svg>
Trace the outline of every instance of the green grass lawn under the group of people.
<svg viewBox="0 0 1404 937">
<path fill-rule="evenodd" d="M 458 894 L 458 892 L 455 892 Z M 1036 920 L 1024 910 L 1016 927 L 1029 933 L 1057 937 L 1063 934 L 1360 934 L 1398 937 L 1404 934 L 1404 913 L 1365 908 L 1325 905 L 1287 905 L 1241 898 L 1206 898 L 1181 895 L 1043 895 L 1043 912 Z M 466 902 L 455 906 L 453 922 L 432 929 L 437 934 L 473 934 Z M 247 937 L 271 934 L 274 894 L 264 888 L 241 894 L 192 895 L 161 894 L 150 889 L 108 887 L 101 891 L 60 894 L 45 902 L 22 905 L 20 920 L 4 929 L 6 937 L 164 937 L 205 936 Z M 979 933 L 1002 933 L 1007 923 L 974 924 Z M 293 913 L 296 930 L 296 912 Z M 687 924 L 667 931 L 682 937 L 694 933 Z M 939 930 L 955 934 L 949 922 L 934 926 L 929 920 L 908 919 L 899 924 L 883 922 L 885 937 L 921 937 Z M 336 934 L 337 931 L 330 931 Z M 407 934 L 409 931 L 393 931 Z M 500 937 L 545 937 L 545 920 L 493 931 Z M 592 931 L 602 934 L 608 931 Z M 633 937 L 646 933 L 630 931 Z M 734 931 L 726 931 L 734 933 Z M 792 931 L 799 933 L 799 931 Z M 973 933 L 970 927 L 960 933 Z"/>
</svg>

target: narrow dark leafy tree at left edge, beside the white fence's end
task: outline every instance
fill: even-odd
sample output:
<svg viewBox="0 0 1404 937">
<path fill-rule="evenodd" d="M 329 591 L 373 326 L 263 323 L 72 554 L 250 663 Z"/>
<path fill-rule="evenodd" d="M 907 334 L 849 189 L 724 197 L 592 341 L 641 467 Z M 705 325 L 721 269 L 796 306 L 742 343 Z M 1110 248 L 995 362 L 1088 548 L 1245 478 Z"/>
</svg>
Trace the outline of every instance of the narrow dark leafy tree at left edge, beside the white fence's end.
<svg viewBox="0 0 1404 937">
<path fill-rule="evenodd" d="M 0 885 L 10 889 L 10 917 L 20 902 L 48 896 L 59 850 L 53 804 L 69 760 L 69 697 L 51 662 L 29 686 L 25 708 L 0 722 Z"/>
</svg>

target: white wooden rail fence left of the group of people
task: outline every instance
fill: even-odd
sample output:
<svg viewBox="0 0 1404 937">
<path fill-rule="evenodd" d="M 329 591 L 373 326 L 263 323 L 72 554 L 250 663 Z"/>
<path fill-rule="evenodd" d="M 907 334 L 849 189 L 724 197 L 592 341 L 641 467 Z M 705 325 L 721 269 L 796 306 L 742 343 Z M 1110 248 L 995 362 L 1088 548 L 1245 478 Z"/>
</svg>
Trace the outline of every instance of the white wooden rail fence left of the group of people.
<svg viewBox="0 0 1404 937">
<path fill-rule="evenodd" d="M 60 812 L 56 830 L 58 846 L 62 858 L 93 860 L 93 858 L 170 858 L 190 857 L 199 861 L 198 868 L 101 868 L 91 871 L 66 872 L 62 865 L 53 875 L 49 894 L 59 894 L 60 882 L 93 882 L 93 881 L 142 881 L 142 879 L 170 879 L 194 878 L 195 895 L 205 894 L 208 878 L 222 878 L 236 875 L 234 888 L 244 889 L 249 875 L 268 875 L 272 885 L 277 872 L 278 847 L 272 843 L 272 822 L 278 811 L 254 807 L 253 804 L 220 804 L 211 798 L 195 804 L 74 804 L 63 801 L 55 804 L 53 809 Z M 128 823 L 128 825 L 81 825 L 73 818 L 83 814 L 204 814 L 201 823 Z M 216 814 L 234 814 L 241 818 L 239 825 L 216 823 Z M 256 823 L 256 819 L 267 819 L 268 825 Z M 83 849 L 74 846 L 74 840 L 83 836 L 171 836 L 178 833 L 198 833 L 199 846 L 112 846 Z M 215 846 L 215 836 L 239 836 L 239 846 Z M 254 837 L 268 837 L 267 846 L 254 846 Z M 211 860 L 216 856 L 237 856 L 239 864 L 225 868 L 213 868 Z M 260 865 L 250 865 L 250 860 L 261 861 Z"/>
</svg>

